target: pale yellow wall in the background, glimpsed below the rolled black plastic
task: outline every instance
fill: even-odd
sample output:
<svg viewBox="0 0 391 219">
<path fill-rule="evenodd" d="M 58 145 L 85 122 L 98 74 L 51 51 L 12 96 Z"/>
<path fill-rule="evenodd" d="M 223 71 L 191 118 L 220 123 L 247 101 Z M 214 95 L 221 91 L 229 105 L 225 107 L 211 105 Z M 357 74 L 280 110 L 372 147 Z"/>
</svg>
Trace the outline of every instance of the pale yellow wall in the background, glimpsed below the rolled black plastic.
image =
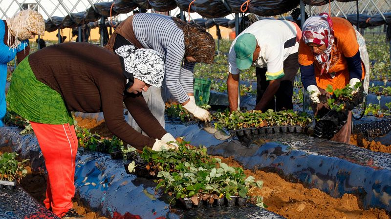
<svg viewBox="0 0 391 219">
<path fill-rule="evenodd" d="M 109 29 L 108 29 L 109 30 Z M 220 33 L 222 38 L 229 38 L 229 34 L 231 33 L 233 29 L 225 28 L 225 27 L 220 27 Z M 112 30 L 114 31 L 114 30 Z M 214 37 L 217 38 L 216 35 L 216 27 L 212 27 L 208 29 L 208 32 Z M 53 32 L 45 32 L 45 35 L 42 37 L 44 40 L 58 40 L 56 37 L 58 31 L 53 31 Z M 62 35 L 66 36 L 65 42 L 69 42 L 69 39 L 72 37 L 72 29 L 70 28 L 65 28 L 62 30 Z M 99 28 L 94 28 L 91 29 L 91 40 L 99 40 L 100 34 L 99 34 Z M 37 38 L 37 37 L 36 37 Z M 76 37 L 73 37 L 72 41 L 75 41 Z M 35 41 L 35 40 L 34 40 Z"/>
</svg>

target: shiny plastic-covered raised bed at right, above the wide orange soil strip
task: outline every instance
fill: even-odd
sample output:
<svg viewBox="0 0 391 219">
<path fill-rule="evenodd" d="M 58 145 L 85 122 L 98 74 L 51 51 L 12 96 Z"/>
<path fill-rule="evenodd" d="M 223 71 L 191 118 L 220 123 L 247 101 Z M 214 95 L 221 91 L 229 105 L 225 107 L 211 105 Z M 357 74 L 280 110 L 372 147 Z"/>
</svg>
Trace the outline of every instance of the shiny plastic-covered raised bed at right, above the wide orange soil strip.
<svg viewBox="0 0 391 219">
<path fill-rule="evenodd" d="M 391 210 L 391 154 L 294 133 L 254 135 L 243 143 L 210 146 L 208 153 L 278 172 L 332 197 L 355 194 L 366 209 Z"/>
</svg>

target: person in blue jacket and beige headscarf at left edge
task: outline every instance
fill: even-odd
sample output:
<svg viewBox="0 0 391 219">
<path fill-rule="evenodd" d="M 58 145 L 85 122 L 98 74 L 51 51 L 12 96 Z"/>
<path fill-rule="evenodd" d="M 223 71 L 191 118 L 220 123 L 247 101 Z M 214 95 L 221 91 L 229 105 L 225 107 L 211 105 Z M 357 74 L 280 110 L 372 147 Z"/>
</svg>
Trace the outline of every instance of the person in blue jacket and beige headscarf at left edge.
<svg viewBox="0 0 391 219">
<path fill-rule="evenodd" d="M 21 62 L 29 55 L 28 39 L 34 35 L 42 35 L 45 31 L 45 22 L 40 13 L 33 10 L 24 10 L 12 18 L 0 20 L 0 127 L 5 115 L 5 83 L 7 80 L 7 63 L 17 60 Z"/>
</svg>

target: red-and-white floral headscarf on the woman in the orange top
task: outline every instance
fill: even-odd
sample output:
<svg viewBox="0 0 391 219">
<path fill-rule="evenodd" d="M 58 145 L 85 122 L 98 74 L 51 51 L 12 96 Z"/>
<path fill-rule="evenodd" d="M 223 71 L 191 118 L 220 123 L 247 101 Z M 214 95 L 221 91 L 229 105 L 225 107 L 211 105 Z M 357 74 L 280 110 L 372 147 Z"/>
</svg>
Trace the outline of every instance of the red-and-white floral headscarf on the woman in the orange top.
<svg viewBox="0 0 391 219">
<path fill-rule="evenodd" d="M 334 29 L 330 16 L 327 13 L 321 13 L 319 16 L 311 16 L 304 22 L 303 39 L 305 44 L 316 43 L 326 45 L 324 53 L 314 54 L 316 60 L 322 64 L 321 74 L 328 72 L 330 67 L 330 55 L 334 43 Z"/>
</svg>

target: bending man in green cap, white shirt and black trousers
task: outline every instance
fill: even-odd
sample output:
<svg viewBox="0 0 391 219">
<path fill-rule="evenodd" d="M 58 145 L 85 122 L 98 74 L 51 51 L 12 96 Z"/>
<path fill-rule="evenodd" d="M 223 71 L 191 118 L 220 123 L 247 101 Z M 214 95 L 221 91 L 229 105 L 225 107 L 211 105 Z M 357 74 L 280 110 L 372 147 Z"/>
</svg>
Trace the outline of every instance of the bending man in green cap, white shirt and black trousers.
<svg viewBox="0 0 391 219">
<path fill-rule="evenodd" d="M 228 101 L 238 110 L 239 70 L 256 67 L 255 110 L 293 109 L 293 82 L 299 69 L 300 28 L 291 21 L 264 19 L 245 29 L 231 44 L 228 55 Z M 276 98 L 274 98 L 276 96 Z"/>
</svg>

